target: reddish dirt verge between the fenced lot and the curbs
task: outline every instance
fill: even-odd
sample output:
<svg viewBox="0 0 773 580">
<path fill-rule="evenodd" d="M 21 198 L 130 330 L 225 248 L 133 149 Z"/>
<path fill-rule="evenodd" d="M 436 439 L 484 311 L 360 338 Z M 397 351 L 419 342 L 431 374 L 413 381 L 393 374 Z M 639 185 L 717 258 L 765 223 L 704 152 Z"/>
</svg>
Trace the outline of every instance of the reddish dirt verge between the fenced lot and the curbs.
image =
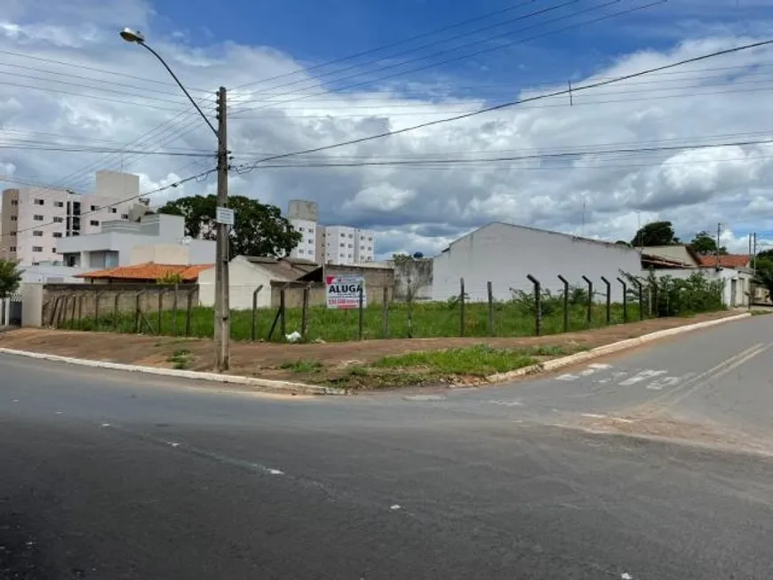
<svg viewBox="0 0 773 580">
<path fill-rule="evenodd" d="M 700 314 L 692 318 L 661 318 L 603 329 L 561 335 L 528 338 L 414 338 L 366 340 L 328 344 L 267 344 L 234 342 L 231 349 L 231 374 L 252 377 L 288 379 L 315 384 L 341 382 L 342 377 L 360 377 L 353 386 L 399 386 L 422 382 L 417 373 L 406 369 L 382 372 L 376 377 L 371 367 L 387 356 L 439 351 L 487 345 L 500 349 L 523 350 L 543 347 L 536 352 L 538 362 L 580 350 L 608 345 L 649 332 L 671 329 L 685 324 L 717 320 L 738 314 L 721 312 Z M 20 329 L 0 333 L 0 347 L 59 354 L 95 361 L 121 362 L 161 368 L 180 366 L 179 353 L 184 351 L 185 368 L 211 370 L 211 340 L 200 338 L 153 337 L 106 332 L 72 330 Z M 553 349 L 554 354 L 550 353 Z M 176 353 L 178 355 L 176 355 Z M 406 377 L 408 375 L 408 377 Z M 469 384 L 475 373 L 458 373 L 453 377 L 432 375 L 427 383 L 438 381 Z"/>
</svg>

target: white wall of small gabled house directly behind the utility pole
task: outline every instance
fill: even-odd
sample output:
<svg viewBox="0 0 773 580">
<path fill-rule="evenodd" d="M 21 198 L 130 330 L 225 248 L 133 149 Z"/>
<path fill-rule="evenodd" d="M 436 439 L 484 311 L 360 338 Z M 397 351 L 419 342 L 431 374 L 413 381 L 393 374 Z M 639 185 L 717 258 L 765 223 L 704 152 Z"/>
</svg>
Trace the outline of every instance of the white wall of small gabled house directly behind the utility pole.
<svg viewBox="0 0 773 580">
<path fill-rule="evenodd" d="M 228 299 L 232 310 L 251 309 L 252 293 L 261 284 L 263 290 L 258 293 L 258 307 L 271 306 L 271 277 L 263 268 L 237 257 L 230 262 L 228 278 L 230 284 Z M 199 304 L 201 306 L 215 304 L 214 267 L 199 274 Z"/>
</svg>

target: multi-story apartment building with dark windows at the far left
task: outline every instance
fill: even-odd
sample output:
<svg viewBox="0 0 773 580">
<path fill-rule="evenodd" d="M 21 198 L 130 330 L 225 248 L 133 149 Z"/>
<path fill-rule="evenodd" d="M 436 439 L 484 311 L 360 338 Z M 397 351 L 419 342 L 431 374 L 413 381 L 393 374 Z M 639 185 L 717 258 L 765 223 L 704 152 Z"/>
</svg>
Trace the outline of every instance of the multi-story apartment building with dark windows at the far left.
<svg viewBox="0 0 773 580">
<path fill-rule="evenodd" d="M 97 234 L 103 222 L 129 219 L 138 203 L 139 176 L 97 171 L 96 192 L 20 187 L 5 189 L 0 221 L 0 257 L 22 266 L 59 263 L 57 242 L 81 234 Z"/>
</svg>

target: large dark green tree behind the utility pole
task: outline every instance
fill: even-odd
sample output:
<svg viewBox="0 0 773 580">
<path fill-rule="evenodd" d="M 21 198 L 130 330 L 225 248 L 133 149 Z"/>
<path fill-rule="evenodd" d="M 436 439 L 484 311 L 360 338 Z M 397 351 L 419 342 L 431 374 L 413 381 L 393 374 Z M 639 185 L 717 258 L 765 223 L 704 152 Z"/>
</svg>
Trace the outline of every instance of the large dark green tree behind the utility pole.
<svg viewBox="0 0 773 580">
<path fill-rule="evenodd" d="M 216 207 L 216 195 L 192 195 L 166 203 L 158 213 L 185 218 L 185 233 L 192 238 L 214 240 Z M 235 220 L 230 235 L 231 256 L 286 256 L 303 238 L 275 205 L 232 195 L 228 207 L 234 210 Z"/>
</svg>

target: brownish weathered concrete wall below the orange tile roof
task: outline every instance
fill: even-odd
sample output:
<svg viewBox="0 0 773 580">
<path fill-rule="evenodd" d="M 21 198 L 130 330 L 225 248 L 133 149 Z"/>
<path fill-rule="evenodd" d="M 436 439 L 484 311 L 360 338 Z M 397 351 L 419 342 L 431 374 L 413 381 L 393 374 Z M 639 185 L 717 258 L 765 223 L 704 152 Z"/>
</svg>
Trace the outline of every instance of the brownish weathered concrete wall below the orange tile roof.
<svg viewBox="0 0 773 580">
<path fill-rule="evenodd" d="M 73 314 L 73 304 L 75 304 L 76 318 L 78 316 L 87 318 L 96 315 L 98 312 L 98 302 L 100 316 L 114 313 L 116 311 L 116 304 L 118 312 L 134 312 L 137 306 L 137 295 L 143 290 L 145 292 L 139 298 L 139 306 L 146 315 L 158 311 L 158 298 L 162 294 L 162 310 L 172 309 L 174 305 L 174 287 L 171 286 L 159 286 L 156 284 L 110 284 L 109 286 L 45 284 L 41 297 L 40 323 L 44 326 L 49 325 L 57 298 L 60 298 L 60 309 L 65 305 L 64 300 L 67 298 L 67 303 L 64 307 L 67 320 L 69 320 Z M 195 306 L 198 303 L 198 287 L 195 284 L 179 286 L 177 293 L 179 310 L 184 310 L 187 307 L 187 294 L 191 291 L 193 291 L 192 299 Z M 24 310 L 28 310 L 26 303 L 24 304 Z M 34 314 L 30 314 L 30 316 L 34 316 Z"/>
</svg>

